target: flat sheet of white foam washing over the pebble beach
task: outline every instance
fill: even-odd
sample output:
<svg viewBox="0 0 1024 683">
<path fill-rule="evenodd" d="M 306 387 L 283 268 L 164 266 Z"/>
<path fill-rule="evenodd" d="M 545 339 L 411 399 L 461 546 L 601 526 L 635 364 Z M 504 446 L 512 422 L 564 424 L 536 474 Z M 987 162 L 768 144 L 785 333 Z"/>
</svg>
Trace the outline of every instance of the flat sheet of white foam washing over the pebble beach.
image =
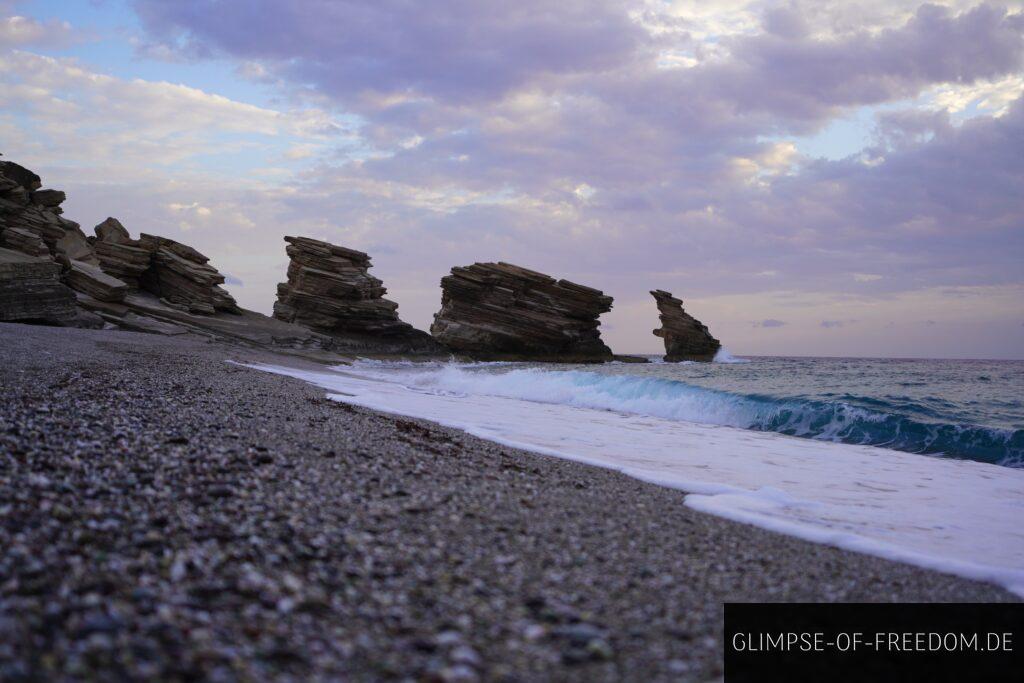
<svg viewBox="0 0 1024 683">
<path fill-rule="evenodd" d="M 1024 470 L 508 396 L 407 386 L 358 367 L 253 368 L 335 400 L 687 492 L 686 505 L 1024 595 Z M 361 376 L 360 376 L 361 375 Z"/>
</svg>

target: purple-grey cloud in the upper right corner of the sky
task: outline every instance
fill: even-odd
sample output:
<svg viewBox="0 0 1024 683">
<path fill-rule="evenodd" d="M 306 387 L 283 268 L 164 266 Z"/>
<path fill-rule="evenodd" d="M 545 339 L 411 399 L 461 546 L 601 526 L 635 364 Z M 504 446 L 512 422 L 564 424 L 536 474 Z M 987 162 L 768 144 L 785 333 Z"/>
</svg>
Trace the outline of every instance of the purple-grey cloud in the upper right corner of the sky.
<svg viewBox="0 0 1024 683">
<path fill-rule="evenodd" d="M 787 11 L 775 10 L 769 18 Z M 795 19 L 799 22 L 799 19 Z M 1017 70 L 1024 16 L 981 4 L 962 14 L 923 4 L 901 27 L 819 40 L 769 31 L 734 42 L 734 60 L 709 70 L 743 109 L 816 118 L 820 108 L 908 97 L 931 83 Z"/>
</svg>

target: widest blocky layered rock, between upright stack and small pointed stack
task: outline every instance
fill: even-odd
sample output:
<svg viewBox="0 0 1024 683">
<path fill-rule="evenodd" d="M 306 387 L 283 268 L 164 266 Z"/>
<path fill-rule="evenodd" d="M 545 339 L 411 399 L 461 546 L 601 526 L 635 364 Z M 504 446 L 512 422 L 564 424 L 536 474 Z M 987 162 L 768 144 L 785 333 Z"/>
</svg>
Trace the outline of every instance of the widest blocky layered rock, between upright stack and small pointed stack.
<svg viewBox="0 0 1024 683">
<path fill-rule="evenodd" d="M 598 317 L 611 297 L 509 263 L 452 268 L 430 333 L 453 351 L 480 359 L 611 360 Z"/>
</svg>

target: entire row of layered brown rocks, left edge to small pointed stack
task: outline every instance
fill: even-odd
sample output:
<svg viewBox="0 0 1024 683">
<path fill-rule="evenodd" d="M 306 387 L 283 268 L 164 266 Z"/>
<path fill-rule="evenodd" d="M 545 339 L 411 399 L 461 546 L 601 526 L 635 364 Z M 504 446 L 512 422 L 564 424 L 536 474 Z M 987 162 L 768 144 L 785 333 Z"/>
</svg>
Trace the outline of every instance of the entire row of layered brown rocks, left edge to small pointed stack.
<svg viewBox="0 0 1024 683">
<path fill-rule="evenodd" d="M 305 237 L 286 237 L 287 282 L 273 317 L 243 310 L 225 276 L 188 245 L 141 232 L 114 217 L 86 236 L 63 217 L 67 197 L 0 161 L 0 322 L 184 332 L 267 350 L 457 356 L 473 360 L 646 362 L 614 355 L 600 316 L 612 297 L 511 263 L 452 268 L 430 334 L 398 317 L 370 255 Z M 720 344 L 668 292 L 651 292 L 662 313 L 667 361 L 714 359 Z"/>
</svg>

